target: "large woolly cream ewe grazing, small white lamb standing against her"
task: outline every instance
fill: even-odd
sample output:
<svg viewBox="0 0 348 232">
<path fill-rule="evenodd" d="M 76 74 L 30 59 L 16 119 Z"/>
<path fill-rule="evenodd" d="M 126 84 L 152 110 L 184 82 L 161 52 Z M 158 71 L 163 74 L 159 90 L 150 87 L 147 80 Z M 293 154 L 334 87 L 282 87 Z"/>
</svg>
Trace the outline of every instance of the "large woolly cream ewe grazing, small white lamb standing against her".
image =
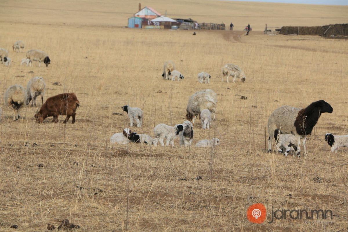
<svg viewBox="0 0 348 232">
<path fill-rule="evenodd" d="M 213 118 L 215 119 L 215 110 L 216 110 L 216 93 L 211 89 L 204 89 L 192 94 L 189 97 L 189 101 L 186 107 L 186 119 L 191 121 L 195 125 L 195 117 L 200 115 L 204 109 L 208 109 L 213 113 Z"/>
</svg>

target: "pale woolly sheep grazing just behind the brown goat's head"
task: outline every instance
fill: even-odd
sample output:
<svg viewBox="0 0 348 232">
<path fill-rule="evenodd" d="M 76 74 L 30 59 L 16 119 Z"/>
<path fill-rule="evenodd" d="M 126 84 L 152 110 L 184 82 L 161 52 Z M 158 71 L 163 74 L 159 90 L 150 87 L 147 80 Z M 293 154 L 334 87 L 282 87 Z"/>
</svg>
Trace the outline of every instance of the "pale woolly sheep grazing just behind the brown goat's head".
<svg viewBox="0 0 348 232">
<path fill-rule="evenodd" d="M 31 102 L 31 106 L 36 106 L 36 97 L 41 95 L 42 105 L 44 104 L 44 96 L 46 90 L 46 83 L 42 77 L 33 77 L 28 81 L 26 85 L 26 104 L 29 105 Z"/>
</svg>

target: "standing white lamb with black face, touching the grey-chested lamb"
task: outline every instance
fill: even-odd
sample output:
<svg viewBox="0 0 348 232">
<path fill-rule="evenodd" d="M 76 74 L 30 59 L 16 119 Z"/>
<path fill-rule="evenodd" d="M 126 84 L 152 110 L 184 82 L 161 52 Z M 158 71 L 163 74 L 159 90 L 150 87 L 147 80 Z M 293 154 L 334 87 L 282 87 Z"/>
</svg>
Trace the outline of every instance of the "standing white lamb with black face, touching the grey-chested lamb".
<svg viewBox="0 0 348 232">
<path fill-rule="evenodd" d="M 169 146 L 169 142 L 174 146 L 174 139 L 177 135 L 179 135 L 180 131 L 183 131 L 184 126 L 181 124 L 172 126 L 167 126 L 163 123 L 158 124 L 155 128 L 153 128 L 153 134 L 155 135 L 155 139 L 153 139 L 152 143 L 154 146 L 157 146 L 157 142 L 164 146 L 164 138 L 166 139 L 166 146 Z"/>
</svg>

